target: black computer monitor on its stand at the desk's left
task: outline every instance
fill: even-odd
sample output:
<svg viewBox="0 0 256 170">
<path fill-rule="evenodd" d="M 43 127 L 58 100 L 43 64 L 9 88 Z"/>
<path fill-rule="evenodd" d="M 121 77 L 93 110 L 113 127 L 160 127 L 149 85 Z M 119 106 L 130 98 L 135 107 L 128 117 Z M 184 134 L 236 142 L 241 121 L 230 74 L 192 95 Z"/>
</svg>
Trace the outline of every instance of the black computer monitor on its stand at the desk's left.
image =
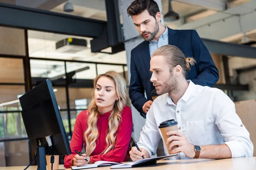
<svg viewBox="0 0 256 170">
<path fill-rule="evenodd" d="M 49 146 L 45 137 L 50 136 L 54 155 L 71 154 L 51 80 L 41 82 L 19 100 L 27 136 L 32 143 L 36 142 L 38 169 L 46 170 Z"/>
</svg>

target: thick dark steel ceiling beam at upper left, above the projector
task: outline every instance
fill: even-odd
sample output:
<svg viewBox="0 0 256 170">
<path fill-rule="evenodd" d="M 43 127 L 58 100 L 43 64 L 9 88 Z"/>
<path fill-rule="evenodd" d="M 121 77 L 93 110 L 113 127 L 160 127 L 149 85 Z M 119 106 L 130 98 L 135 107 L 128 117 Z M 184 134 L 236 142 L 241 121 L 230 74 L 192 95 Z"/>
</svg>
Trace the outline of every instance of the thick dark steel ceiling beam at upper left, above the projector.
<svg viewBox="0 0 256 170">
<path fill-rule="evenodd" d="M 0 3 L 0 25 L 96 38 L 102 35 L 107 22 Z M 4 17 L 3 17 L 4 16 Z"/>
</svg>

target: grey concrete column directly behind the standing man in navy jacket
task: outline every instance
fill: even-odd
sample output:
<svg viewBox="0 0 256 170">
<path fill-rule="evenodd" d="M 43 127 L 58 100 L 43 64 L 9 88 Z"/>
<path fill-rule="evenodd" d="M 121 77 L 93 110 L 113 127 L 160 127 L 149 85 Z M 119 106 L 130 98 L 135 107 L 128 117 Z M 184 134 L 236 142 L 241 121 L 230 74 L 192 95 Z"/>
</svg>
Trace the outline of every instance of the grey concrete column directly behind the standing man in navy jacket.
<svg viewBox="0 0 256 170">
<path fill-rule="evenodd" d="M 161 0 L 155 0 L 160 8 L 160 12 L 162 11 L 162 2 Z M 127 59 L 127 67 L 128 67 L 128 79 L 131 79 L 131 71 L 130 71 L 130 60 L 131 60 L 131 50 L 144 41 L 143 37 L 140 36 L 140 33 L 134 26 L 133 20 L 131 17 L 128 17 L 126 10 L 128 6 L 133 2 L 133 0 L 120 0 L 120 8 L 119 11 L 122 15 L 122 23 L 123 23 L 123 34 L 125 38 L 125 51 L 126 51 L 126 59 Z M 161 22 L 163 23 L 163 17 Z M 142 127 L 145 125 L 145 119 L 140 116 L 140 113 L 131 105 L 132 111 L 132 119 L 133 119 L 133 133 L 132 136 L 136 141 L 139 141 L 140 131 Z"/>
</svg>

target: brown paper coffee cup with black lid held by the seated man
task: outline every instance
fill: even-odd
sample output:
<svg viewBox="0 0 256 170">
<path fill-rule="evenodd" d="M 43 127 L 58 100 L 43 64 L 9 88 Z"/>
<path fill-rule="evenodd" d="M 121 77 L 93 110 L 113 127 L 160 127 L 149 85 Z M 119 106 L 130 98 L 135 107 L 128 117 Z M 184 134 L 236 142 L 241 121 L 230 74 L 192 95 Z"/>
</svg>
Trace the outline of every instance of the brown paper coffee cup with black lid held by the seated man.
<svg viewBox="0 0 256 170">
<path fill-rule="evenodd" d="M 169 145 L 171 143 L 166 144 L 166 141 L 172 135 L 166 135 L 166 133 L 169 131 L 172 131 L 172 130 L 178 130 L 177 124 L 178 123 L 174 119 L 171 119 L 171 120 L 166 120 L 166 121 L 160 123 L 160 125 L 158 126 L 158 128 L 160 129 L 162 136 L 163 136 L 163 142 L 165 143 L 169 154 L 172 150 L 174 150 L 176 147 L 178 147 L 178 145 L 173 146 L 172 149 L 170 150 Z"/>
</svg>

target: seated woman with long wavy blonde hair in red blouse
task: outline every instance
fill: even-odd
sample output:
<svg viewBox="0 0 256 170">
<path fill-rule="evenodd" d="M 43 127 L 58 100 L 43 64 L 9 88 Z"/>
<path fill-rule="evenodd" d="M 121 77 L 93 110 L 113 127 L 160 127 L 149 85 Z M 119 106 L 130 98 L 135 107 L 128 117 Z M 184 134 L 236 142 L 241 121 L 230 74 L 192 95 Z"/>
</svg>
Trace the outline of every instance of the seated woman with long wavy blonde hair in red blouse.
<svg viewBox="0 0 256 170">
<path fill-rule="evenodd" d="M 132 116 L 126 105 L 127 94 L 125 79 L 117 72 L 108 71 L 95 78 L 88 110 L 76 118 L 70 143 L 72 154 L 65 156 L 64 167 L 129 160 Z M 79 156 L 75 150 L 81 152 L 83 144 L 85 154 Z"/>
</svg>

